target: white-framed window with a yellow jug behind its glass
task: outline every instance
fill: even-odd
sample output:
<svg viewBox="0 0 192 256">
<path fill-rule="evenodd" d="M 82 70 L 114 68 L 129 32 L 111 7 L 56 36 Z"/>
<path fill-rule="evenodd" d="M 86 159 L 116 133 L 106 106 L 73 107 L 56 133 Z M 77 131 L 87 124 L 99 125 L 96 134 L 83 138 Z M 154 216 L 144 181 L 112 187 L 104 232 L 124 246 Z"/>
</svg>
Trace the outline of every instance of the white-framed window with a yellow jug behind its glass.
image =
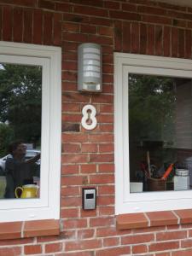
<svg viewBox="0 0 192 256">
<path fill-rule="evenodd" d="M 58 219 L 61 49 L 0 42 L 0 78 L 0 222 Z M 19 149 L 25 151 L 25 164 L 34 164 L 32 167 L 35 167 L 34 172 L 31 169 L 29 171 L 32 177 L 26 175 L 20 183 L 24 186 L 37 183 L 37 197 L 15 198 L 15 191 L 9 196 L 4 194 L 9 183 L 6 168 L 13 158 L 13 154 L 6 152 L 6 148 L 19 140 L 23 147 Z M 40 159 L 37 157 L 39 153 Z M 33 158 L 34 162 L 30 162 Z"/>
</svg>

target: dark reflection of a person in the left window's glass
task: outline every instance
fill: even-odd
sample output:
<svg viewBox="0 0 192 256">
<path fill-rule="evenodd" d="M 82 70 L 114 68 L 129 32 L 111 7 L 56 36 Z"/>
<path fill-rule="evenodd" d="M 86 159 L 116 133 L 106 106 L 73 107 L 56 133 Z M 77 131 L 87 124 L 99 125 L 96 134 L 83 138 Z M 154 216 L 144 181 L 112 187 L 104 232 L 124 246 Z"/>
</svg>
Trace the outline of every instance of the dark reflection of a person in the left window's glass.
<svg viewBox="0 0 192 256">
<path fill-rule="evenodd" d="M 33 183 L 33 176 L 39 176 L 36 161 L 40 159 L 40 154 L 26 160 L 26 145 L 21 142 L 10 144 L 9 152 L 12 157 L 8 158 L 5 163 L 7 186 L 4 197 L 15 198 L 16 187 Z"/>
</svg>

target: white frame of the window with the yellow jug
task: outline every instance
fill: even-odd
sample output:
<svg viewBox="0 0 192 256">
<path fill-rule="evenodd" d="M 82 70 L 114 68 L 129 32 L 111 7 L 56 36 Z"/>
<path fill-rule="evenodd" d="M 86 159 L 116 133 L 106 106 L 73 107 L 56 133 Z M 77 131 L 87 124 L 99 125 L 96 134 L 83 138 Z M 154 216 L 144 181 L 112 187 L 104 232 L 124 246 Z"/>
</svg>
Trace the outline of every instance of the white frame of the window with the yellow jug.
<svg viewBox="0 0 192 256">
<path fill-rule="evenodd" d="M 0 222 L 59 219 L 61 48 L 1 41 L 0 62 L 42 67 L 40 198 L 1 199 Z"/>
</svg>

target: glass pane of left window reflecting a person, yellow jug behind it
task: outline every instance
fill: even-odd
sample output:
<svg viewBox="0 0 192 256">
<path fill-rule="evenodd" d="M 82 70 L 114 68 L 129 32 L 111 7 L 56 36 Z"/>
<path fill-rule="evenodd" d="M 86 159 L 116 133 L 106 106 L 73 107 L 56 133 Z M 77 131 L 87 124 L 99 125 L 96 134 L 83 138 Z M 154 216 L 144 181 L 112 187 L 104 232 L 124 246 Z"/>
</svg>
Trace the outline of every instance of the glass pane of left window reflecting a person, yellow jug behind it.
<svg viewBox="0 0 192 256">
<path fill-rule="evenodd" d="M 41 104 L 42 67 L 0 63 L 2 199 L 39 195 Z"/>
</svg>

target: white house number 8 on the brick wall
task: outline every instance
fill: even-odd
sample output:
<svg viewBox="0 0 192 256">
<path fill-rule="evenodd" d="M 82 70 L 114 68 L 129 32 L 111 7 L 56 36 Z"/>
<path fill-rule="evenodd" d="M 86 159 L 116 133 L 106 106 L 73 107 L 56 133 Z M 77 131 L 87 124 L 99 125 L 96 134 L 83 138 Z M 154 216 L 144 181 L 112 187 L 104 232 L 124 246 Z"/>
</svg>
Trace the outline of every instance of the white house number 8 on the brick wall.
<svg viewBox="0 0 192 256">
<path fill-rule="evenodd" d="M 92 105 L 85 105 L 82 109 L 83 117 L 81 119 L 81 125 L 86 130 L 93 130 L 96 128 L 96 108 Z"/>
</svg>

